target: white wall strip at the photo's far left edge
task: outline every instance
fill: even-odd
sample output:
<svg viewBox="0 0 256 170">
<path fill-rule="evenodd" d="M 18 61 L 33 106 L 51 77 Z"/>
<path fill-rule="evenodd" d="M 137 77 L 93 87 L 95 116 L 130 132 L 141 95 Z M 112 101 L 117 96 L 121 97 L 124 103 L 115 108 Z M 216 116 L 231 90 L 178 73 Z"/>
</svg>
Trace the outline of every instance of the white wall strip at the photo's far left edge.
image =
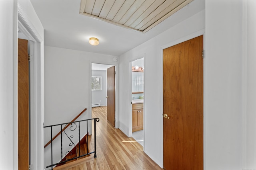
<svg viewBox="0 0 256 170">
<path fill-rule="evenodd" d="M 14 169 L 14 0 L 0 1 L 0 169 Z M 17 20 L 17 18 L 16 18 Z M 4 26 L 3 26 L 4 25 Z"/>
</svg>

